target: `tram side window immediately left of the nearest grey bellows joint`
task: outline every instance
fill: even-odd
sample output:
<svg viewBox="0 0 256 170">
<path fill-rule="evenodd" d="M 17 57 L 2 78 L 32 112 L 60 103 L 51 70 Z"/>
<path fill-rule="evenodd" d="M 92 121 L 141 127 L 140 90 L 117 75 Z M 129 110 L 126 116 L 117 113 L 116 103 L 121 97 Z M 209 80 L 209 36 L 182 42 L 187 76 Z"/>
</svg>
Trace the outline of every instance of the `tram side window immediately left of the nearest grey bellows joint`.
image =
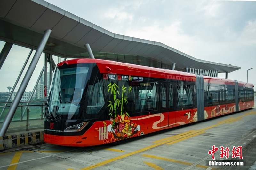
<svg viewBox="0 0 256 170">
<path fill-rule="evenodd" d="M 193 106 L 193 85 L 177 84 L 177 108 Z"/>
</svg>

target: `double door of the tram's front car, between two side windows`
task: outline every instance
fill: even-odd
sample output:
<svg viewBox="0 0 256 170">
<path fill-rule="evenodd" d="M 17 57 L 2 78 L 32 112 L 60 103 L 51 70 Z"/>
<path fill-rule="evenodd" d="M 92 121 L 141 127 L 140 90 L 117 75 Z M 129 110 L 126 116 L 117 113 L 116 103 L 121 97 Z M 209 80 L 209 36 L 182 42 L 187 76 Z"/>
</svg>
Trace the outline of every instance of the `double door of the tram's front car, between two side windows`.
<svg viewBox="0 0 256 170">
<path fill-rule="evenodd" d="M 175 125 L 173 82 L 160 81 L 161 128 Z"/>
</svg>

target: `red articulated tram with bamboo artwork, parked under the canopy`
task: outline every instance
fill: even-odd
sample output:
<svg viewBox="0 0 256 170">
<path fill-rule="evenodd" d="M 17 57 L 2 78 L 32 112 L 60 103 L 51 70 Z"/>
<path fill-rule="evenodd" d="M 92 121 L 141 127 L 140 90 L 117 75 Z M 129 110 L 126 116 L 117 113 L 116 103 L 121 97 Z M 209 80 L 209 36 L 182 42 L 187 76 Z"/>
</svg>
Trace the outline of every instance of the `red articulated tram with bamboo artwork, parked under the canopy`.
<svg viewBox="0 0 256 170">
<path fill-rule="evenodd" d="M 254 107 L 254 85 L 99 59 L 57 65 L 44 142 L 92 146 Z"/>
</svg>

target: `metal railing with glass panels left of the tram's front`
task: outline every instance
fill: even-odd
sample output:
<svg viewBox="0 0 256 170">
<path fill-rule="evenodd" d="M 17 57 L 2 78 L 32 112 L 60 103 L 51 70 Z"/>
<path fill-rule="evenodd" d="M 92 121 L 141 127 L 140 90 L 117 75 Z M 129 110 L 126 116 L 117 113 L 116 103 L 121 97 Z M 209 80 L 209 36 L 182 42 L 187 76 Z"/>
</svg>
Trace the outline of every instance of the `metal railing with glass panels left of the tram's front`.
<svg viewBox="0 0 256 170">
<path fill-rule="evenodd" d="M 0 104 L 5 104 L 5 103 L 12 103 L 12 102 L 0 102 Z M 18 105 L 18 107 L 20 107 L 20 120 L 12 120 L 12 122 L 16 122 L 16 121 L 20 121 L 22 122 L 23 121 L 23 117 L 24 117 L 24 114 L 23 114 L 23 107 L 28 108 L 28 107 L 33 107 L 33 106 L 41 106 L 41 115 L 39 118 L 33 118 L 33 119 L 30 119 L 30 120 L 35 120 L 35 119 L 43 119 L 44 118 L 44 107 L 45 107 L 45 101 L 21 101 L 20 102 L 21 105 Z M 31 104 L 31 105 L 22 105 L 22 103 L 42 103 L 42 104 Z M 4 108 L 4 107 L 11 107 L 11 106 L 0 106 L 0 108 Z M 18 108 L 17 108 L 18 109 Z M 28 113 L 26 111 L 26 113 Z M 27 114 L 27 119 L 28 119 L 28 114 Z M 27 120 L 28 121 L 28 120 Z M 0 122 L 3 122 L 3 121 L 0 121 Z"/>
</svg>

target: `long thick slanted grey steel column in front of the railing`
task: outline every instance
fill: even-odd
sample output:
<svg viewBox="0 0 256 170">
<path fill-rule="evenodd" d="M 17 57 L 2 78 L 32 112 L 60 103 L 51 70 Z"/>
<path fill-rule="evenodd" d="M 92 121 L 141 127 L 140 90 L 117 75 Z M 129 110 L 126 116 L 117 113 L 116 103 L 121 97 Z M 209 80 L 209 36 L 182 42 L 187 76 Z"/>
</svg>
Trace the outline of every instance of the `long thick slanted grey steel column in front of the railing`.
<svg viewBox="0 0 256 170">
<path fill-rule="evenodd" d="M 20 103 L 20 100 L 22 98 L 23 93 L 26 90 L 26 87 L 28 86 L 28 82 L 29 82 L 29 80 L 30 80 L 35 68 L 36 68 L 36 64 L 38 63 L 38 60 L 39 60 L 39 58 L 40 58 L 40 56 L 41 56 L 41 54 L 44 50 L 44 47 L 46 45 L 46 42 L 47 42 L 51 32 L 52 32 L 52 30 L 46 30 L 44 32 L 43 39 L 41 40 L 40 44 L 38 45 L 36 53 L 35 53 L 30 65 L 28 67 L 28 70 L 27 70 L 27 72 L 26 72 L 26 74 L 25 74 L 25 76 L 24 76 L 24 78 L 23 78 L 23 80 L 20 84 L 20 88 L 19 88 L 19 90 L 18 90 L 18 92 L 17 92 L 17 94 L 16 94 L 16 96 L 15 96 L 13 102 L 12 102 L 12 105 L 11 105 L 5 119 L 4 119 L 4 122 L 2 124 L 1 129 L 0 129 L 0 136 L 5 135 L 7 129 L 8 129 L 8 127 L 9 127 L 11 121 L 12 121 L 13 115 L 15 114 L 15 111 L 16 111 L 19 103 Z"/>
</svg>

